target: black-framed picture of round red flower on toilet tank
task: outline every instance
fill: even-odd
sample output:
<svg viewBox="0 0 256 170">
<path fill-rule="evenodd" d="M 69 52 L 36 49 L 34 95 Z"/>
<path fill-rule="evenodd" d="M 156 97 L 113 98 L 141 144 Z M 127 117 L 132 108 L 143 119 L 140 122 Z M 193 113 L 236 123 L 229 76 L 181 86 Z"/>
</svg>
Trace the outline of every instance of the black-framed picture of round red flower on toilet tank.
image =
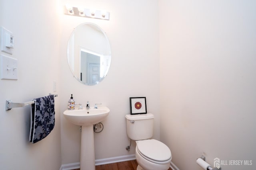
<svg viewBox="0 0 256 170">
<path fill-rule="evenodd" d="M 146 97 L 130 98 L 131 115 L 146 114 Z"/>
</svg>

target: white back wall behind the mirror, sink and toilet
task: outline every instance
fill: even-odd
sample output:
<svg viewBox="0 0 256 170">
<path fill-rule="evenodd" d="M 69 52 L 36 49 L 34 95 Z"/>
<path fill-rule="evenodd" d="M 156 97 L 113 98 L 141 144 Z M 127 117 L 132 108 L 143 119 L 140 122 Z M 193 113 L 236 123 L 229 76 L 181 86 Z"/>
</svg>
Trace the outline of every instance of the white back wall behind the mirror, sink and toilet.
<svg viewBox="0 0 256 170">
<path fill-rule="evenodd" d="M 62 0 L 62 5 L 84 6 L 110 12 L 110 20 L 98 20 L 61 14 L 61 96 L 60 111 L 67 107 L 70 94 L 86 106 L 86 101 L 101 102 L 110 108 L 104 130 L 94 134 L 95 158 L 110 158 L 134 154 L 135 143 L 126 135 L 125 115 L 130 113 L 129 97 L 146 96 L 148 112 L 155 118 L 154 137 L 159 139 L 159 55 L 158 55 L 158 1 L 157 0 Z M 112 50 L 108 75 L 100 84 L 85 86 L 70 72 L 67 44 L 72 30 L 84 22 L 99 25 L 108 36 Z M 80 162 L 79 126 L 61 117 L 62 164 Z"/>
</svg>

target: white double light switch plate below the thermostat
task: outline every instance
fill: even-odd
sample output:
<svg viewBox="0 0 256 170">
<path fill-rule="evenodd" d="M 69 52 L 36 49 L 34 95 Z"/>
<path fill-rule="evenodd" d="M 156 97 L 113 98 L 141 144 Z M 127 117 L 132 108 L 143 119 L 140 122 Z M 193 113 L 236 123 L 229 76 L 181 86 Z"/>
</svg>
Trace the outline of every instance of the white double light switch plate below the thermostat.
<svg viewBox="0 0 256 170">
<path fill-rule="evenodd" d="M 0 78 L 18 80 L 18 60 L 0 55 Z"/>
</svg>

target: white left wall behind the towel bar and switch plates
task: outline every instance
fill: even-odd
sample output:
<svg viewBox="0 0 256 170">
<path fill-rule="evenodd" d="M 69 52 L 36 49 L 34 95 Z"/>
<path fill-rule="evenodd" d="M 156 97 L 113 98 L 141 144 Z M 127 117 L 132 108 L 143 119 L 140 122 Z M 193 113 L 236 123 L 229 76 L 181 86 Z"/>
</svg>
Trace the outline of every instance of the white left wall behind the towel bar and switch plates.
<svg viewBox="0 0 256 170">
<path fill-rule="evenodd" d="M 13 55 L 0 54 L 18 59 L 18 80 L 0 80 L 0 169 L 58 170 L 60 98 L 55 100 L 53 131 L 35 144 L 28 140 L 30 106 L 5 111 L 6 100 L 28 102 L 47 96 L 53 92 L 53 81 L 59 81 L 58 4 L 0 0 L 0 25 L 14 34 L 15 42 Z"/>
</svg>

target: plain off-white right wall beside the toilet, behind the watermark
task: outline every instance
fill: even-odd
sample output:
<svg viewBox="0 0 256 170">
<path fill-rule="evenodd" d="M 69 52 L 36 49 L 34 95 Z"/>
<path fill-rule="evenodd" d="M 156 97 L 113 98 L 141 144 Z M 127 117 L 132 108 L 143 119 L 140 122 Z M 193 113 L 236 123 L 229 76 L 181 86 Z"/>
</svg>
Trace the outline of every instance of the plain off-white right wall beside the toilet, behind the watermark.
<svg viewBox="0 0 256 170">
<path fill-rule="evenodd" d="M 160 139 L 180 170 L 202 154 L 256 168 L 256 2 L 160 0 Z"/>
</svg>

